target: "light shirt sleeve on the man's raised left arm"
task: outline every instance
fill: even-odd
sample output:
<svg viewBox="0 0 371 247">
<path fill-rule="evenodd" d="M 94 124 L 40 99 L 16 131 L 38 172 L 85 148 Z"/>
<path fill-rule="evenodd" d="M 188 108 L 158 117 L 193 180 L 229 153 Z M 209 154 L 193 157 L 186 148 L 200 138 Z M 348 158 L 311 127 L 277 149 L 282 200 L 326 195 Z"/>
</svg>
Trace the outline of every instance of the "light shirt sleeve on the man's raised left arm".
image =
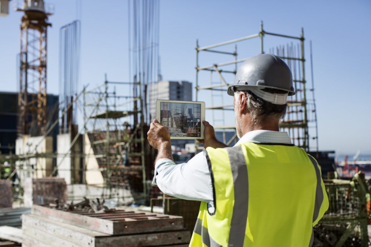
<svg viewBox="0 0 371 247">
<path fill-rule="evenodd" d="M 213 187 L 205 152 L 182 164 L 162 158 L 156 162 L 154 174 L 152 183 L 167 195 L 213 203 Z"/>
</svg>

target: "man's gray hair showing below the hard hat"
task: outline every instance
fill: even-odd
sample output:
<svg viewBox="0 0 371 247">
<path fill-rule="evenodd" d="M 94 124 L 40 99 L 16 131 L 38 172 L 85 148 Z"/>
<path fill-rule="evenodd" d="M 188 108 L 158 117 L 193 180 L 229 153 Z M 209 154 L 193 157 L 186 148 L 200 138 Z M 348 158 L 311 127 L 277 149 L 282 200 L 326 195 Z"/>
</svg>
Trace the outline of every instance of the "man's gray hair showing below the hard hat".
<svg viewBox="0 0 371 247">
<path fill-rule="evenodd" d="M 278 89 L 263 90 L 269 93 L 286 93 L 285 91 Z M 242 92 L 246 93 L 246 113 L 250 113 L 254 125 L 260 124 L 270 118 L 283 119 L 283 117 L 285 117 L 287 104 L 278 105 L 270 103 L 256 96 L 249 90 L 235 91 L 234 98 L 236 99 L 236 103 L 240 102 L 239 96 Z"/>
</svg>

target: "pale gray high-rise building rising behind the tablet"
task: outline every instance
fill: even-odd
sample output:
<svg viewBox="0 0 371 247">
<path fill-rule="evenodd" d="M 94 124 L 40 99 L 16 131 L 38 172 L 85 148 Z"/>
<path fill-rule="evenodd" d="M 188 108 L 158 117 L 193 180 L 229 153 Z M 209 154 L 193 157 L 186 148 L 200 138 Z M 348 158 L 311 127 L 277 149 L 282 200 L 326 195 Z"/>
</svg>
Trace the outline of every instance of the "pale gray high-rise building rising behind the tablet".
<svg viewBox="0 0 371 247">
<path fill-rule="evenodd" d="M 158 81 L 150 85 L 150 117 L 156 117 L 156 100 L 192 100 L 192 83 L 188 81 Z"/>
</svg>

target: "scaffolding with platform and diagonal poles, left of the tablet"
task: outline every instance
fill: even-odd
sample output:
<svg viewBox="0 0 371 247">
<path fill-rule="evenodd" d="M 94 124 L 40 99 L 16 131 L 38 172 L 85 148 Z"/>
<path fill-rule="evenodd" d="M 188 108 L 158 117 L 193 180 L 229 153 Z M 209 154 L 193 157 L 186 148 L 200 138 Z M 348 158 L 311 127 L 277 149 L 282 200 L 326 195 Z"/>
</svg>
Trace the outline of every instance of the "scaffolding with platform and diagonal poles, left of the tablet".
<svg viewBox="0 0 371 247">
<path fill-rule="evenodd" d="M 7 179 L 18 176 L 13 181 L 13 187 L 16 188 L 13 191 L 14 200 L 22 203 L 25 178 L 65 177 L 62 173 L 67 171 L 70 174 L 67 175 L 70 177 L 65 177 L 66 181 L 70 181 L 69 201 L 87 196 L 88 190 L 92 190 L 89 186 L 93 186 L 97 191 L 93 196 L 90 194 L 93 198 L 119 198 L 125 193 L 123 190 L 129 190 L 129 197 L 147 203 L 151 181 L 146 178 L 153 172 L 153 167 L 148 164 L 153 163 L 154 150 L 145 143 L 149 127 L 143 121 L 140 87 L 140 82 L 108 80 L 91 90 L 84 87 L 73 96 L 68 106 L 63 107 L 59 118 L 43 136 L 33 137 L 37 140 L 30 144 L 27 152 L 0 154 L 0 168 L 2 160 L 6 160 L 9 162 L 7 166 L 13 171 Z M 139 95 L 135 92 L 139 92 Z M 45 145 L 45 140 L 52 138 L 48 134 L 72 106 L 77 106 L 83 113 L 80 128 L 75 126 L 70 133 L 59 134 L 58 138 L 70 135 L 70 139 L 66 139 L 70 142 L 59 153 L 58 150 L 56 153 L 40 151 L 40 145 Z M 45 160 L 56 162 L 54 166 L 40 168 L 39 164 Z M 89 165 L 92 160 L 97 164 L 96 167 Z M 102 182 L 95 182 L 92 176 L 89 178 L 92 172 L 101 174 Z M 75 191 L 74 185 L 81 186 L 79 192 Z"/>
</svg>

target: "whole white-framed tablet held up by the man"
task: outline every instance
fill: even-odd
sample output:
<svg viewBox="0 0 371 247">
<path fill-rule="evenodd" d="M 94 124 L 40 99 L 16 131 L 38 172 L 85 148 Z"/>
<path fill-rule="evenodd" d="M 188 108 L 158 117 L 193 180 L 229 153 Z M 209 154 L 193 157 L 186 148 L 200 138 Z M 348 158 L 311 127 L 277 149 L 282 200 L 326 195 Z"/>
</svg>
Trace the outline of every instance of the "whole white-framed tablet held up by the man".
<svg viewBox="0 0 371 247">
<path fill-rule="evenodd" d="M 156 100 L 156 119 L 171 139 L 203 139 L 205 102 Z"/>
</svg>

